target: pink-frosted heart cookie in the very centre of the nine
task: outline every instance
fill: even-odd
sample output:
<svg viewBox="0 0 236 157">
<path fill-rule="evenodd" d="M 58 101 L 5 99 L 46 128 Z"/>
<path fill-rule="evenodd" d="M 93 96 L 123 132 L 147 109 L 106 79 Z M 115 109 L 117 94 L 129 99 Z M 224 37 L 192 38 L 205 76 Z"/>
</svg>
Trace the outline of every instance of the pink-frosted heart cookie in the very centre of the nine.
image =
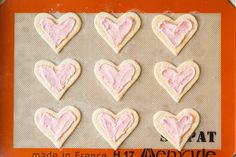
<svg viewBox="0 0 236 157">
<path fill-rule="evenodd" d="M 119 101 L 132 84 L 138 79 L 141 68 L 134 60 L 124 60 L 119 66 L 101 59 L 94 67 L 97 79 Z"/>
</svg>

